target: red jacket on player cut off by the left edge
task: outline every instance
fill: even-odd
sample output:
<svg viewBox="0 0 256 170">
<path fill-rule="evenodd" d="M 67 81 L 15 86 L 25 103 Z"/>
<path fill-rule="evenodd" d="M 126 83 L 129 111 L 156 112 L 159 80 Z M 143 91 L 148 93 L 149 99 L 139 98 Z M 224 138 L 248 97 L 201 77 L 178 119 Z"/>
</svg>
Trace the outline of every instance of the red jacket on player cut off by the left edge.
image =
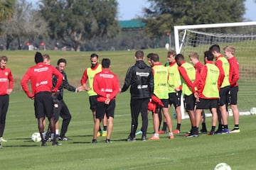
<svg viewBox="0 0 256 170">
<path fill-rule="evenodd" d="M 0 69 L 0 95 L 6 95 L 7 89 L 13 89 L 14 78 L 11 74 L 11 69 Z"/>
</svg>

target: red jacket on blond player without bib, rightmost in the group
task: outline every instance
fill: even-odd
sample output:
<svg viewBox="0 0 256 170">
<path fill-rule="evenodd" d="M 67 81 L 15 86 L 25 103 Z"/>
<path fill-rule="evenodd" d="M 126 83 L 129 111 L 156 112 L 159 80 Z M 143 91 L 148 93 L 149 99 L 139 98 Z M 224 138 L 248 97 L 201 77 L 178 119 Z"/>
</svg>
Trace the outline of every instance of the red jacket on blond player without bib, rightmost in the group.
<svg viewBox="0 0 256 170">
<path fill-rule="evenodd" d="M 229 72 L 229 81 L 230 86 L 238 86 L 238 79 L 239 79 L 239 64 L 238 60 L 234 57 L 228 59 L 230 64 L 230 72 Z"/>
</svg>

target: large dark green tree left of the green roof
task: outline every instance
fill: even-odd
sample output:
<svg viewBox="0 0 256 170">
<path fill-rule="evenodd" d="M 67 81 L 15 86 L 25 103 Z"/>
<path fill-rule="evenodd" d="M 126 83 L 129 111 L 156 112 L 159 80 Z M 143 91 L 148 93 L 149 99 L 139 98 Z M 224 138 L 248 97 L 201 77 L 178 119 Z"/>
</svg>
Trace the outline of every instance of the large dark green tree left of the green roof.
<svg viewBox="0 0 256 170">
<path fill-rule="evenodd" d="M 116 0 L 41 0 L 43 17 L 50 27 L 50 38 L 80 50 L 94 37 L 112 38 L 119 31 Z"/>
</svg>

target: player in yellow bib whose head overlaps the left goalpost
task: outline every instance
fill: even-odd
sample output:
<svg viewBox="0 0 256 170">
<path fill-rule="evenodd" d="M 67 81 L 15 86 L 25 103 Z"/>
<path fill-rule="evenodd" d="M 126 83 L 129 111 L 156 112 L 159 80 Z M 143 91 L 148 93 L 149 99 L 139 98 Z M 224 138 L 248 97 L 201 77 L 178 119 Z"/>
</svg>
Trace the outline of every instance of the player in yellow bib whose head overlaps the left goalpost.
<svg viewBox="0 0 256 170">
<path fill-rule="evenodd" d="M 182 94 L 184 96 L 184 107 L 188 112 L 191 120 L 191 130 L 186 137 L 198 137 L 198 130 L 196 129 L 196 115 L 195 115 L 195 103 L 196 93 L 193 82 L 196 79 L 196 69 L 192 64 L 189 64 L 184 60 L 183 55 L 178 54 L 175 57 L 176 63 L 178 64 L 178 72 L 181 74 Z"/>
</svg>

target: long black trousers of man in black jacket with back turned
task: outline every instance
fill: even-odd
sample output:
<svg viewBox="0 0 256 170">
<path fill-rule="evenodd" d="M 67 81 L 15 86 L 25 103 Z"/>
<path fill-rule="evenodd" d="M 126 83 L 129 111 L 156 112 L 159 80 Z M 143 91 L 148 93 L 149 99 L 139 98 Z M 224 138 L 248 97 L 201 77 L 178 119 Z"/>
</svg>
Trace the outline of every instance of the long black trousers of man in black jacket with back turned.
<svg viewBox="0 0 256 170">
<path fill-rule="evenodd" d="M 131 98 L 130 108 L 132 115 L 132 127 L 131 137 L 135 137 L 135 133 L 138 128 L 139 113 L 142 114 L 142 136 L 146 136 L 146 130 L 148 127 L 148 103 L 149 98 Z"/>
</svg>

